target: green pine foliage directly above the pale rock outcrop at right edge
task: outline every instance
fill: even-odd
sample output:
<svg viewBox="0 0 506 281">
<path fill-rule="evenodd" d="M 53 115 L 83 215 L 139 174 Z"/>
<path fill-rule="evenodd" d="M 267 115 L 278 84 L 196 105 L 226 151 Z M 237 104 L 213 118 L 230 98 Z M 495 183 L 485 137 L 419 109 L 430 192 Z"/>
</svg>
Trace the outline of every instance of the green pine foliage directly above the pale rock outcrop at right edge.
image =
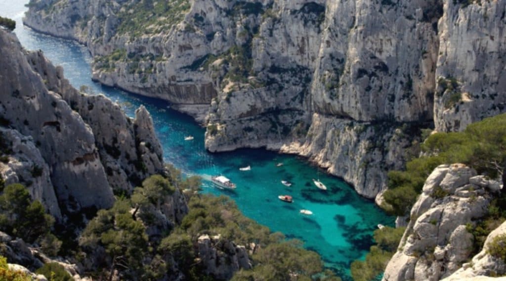
<svg viewBox="0 0 506 281">
<path fill-rule="evenodd" d="M 435 133 L 422 145 L 423 156 L 391 171 L 384 207 L 405 215 L 416 201 L 425 180 L 440 164 L 464 163 L 492 179 L 502 175 L 506 162 L 506 114 L 471 124 L 463 132 Z"/>
</svg>

